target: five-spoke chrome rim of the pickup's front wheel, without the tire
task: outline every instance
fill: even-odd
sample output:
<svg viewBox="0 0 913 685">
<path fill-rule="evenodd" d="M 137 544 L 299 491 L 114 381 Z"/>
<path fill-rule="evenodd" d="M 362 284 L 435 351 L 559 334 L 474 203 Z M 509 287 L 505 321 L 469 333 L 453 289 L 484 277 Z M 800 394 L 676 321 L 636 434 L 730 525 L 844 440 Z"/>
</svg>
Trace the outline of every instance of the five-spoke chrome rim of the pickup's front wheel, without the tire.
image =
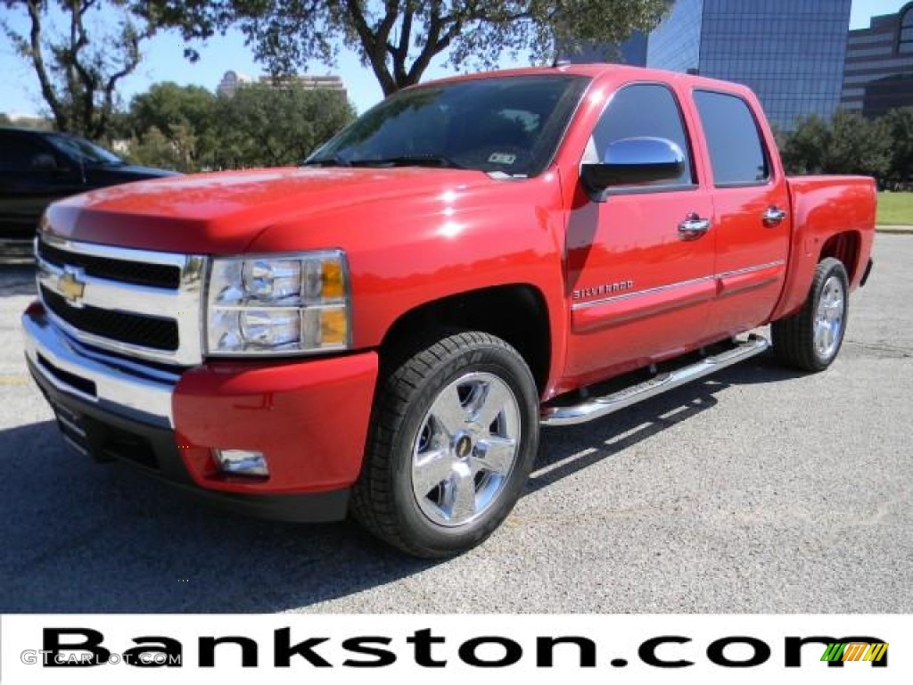
<svg viewBox="0 0 913 685">
<path fill-rule="evenodd" d="M 431 522 L 465 525 L 491 508 L 520 441 L 517 397 L 495 374 L 460 376 L 436 396 L 412 453 L 412 489 Z"/>
</svg>

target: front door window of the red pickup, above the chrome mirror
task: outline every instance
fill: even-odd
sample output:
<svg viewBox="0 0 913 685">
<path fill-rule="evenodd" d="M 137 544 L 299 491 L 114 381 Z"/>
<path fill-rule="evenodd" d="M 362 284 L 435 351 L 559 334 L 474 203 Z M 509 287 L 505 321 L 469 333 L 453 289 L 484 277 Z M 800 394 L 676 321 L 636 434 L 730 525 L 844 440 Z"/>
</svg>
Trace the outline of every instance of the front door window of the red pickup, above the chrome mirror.
<svg viewBox="0 0 913 685">
<path fill-rule="evenodd" d="M 691 172 L 691 147 L 687 142 L 681 111 L 672 91 L 656 83 L 637 83 L 625 86 L 614 94 L 603 111 L 603 116 L 593 129 L 586 162 L 605 159 L 611 143 L 625 138 L 665 138 L 681 148 L 685 154 L 685 170 L 676 181 L 662 185 L 690 185 L 694 183 Z"/>
</svg>

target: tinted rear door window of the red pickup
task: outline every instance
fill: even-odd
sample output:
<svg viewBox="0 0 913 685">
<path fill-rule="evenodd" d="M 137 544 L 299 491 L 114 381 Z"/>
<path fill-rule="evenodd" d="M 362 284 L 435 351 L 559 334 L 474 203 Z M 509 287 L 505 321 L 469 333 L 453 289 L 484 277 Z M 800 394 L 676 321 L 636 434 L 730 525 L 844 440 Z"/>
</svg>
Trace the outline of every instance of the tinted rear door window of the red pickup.
<svg viewBox="0 0 913 685">
<path fill-rule="evenodd" d="M 698 90 L 694 94 L 707 137 L 713 183 L 762 184 L 771 177 L 758 124 L 748 103 L 735 95 Z"/>
</svg>

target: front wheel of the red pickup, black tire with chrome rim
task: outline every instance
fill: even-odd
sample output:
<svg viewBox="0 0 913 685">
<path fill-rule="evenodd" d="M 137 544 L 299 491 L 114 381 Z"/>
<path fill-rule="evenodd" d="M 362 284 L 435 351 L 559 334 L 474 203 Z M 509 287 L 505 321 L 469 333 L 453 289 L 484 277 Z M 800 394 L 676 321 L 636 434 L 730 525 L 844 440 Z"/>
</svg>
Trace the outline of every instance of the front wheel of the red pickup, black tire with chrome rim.
<svg viewBox="0 0 913 685">
<path fill-rule="evenodd" d="M 519 500 L 539 447 L 539 394 L 519 353 L 488 333 L 442 333 L 403 356 L 378 387 L 352 514 L 406 553 L 452 556 L 484 541 Z"/>
</svg>

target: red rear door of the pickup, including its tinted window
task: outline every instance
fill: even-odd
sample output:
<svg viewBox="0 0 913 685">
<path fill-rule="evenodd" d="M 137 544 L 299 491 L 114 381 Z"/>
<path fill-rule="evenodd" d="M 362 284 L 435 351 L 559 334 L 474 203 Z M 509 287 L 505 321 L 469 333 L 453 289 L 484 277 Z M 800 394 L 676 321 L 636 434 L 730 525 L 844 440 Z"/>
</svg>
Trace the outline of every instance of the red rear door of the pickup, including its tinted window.
<svg viewBox="0 0 913 685">
<path fill-rule="evenodd" d="M 708 331 L 726 337 L 767 321 L 786 278 L 791 217 L 782 169 L 749 100 L 695 90 L 713 180 L 718 296 Z M 755 107 L 756 104 L 755 100 Z"/>
</svg>

